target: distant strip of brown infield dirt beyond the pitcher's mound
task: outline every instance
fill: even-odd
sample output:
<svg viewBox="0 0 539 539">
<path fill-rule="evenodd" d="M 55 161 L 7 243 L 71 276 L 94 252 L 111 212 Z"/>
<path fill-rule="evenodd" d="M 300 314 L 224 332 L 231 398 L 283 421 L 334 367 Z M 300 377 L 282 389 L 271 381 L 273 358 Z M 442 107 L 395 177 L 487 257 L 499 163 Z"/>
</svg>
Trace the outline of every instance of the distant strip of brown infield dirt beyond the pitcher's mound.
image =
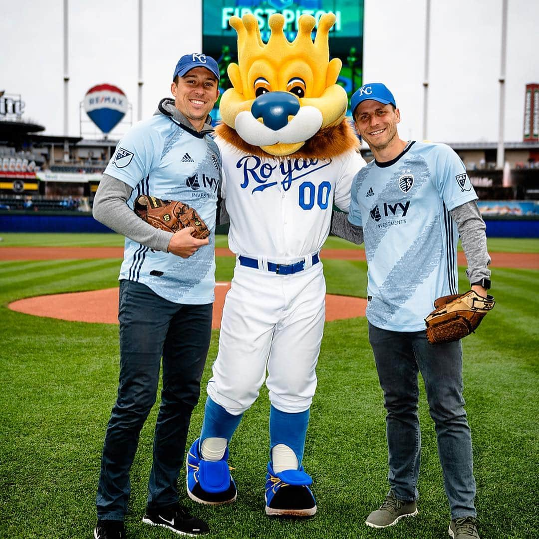
<svg viewBox="0 0 539 539">
<path fill-rule="evenodd" d="M 215 250 L 217 256 L 234 256 L 224 247 Z M 361 249 L 323 249 L 323 258 L 365 260 Z M 466 265 L 459 252 L 459 265 Z M 493 268 L 539 269 L 538 253 L 490 253 Z M 123 258 L 123 247 L 0 247 L 0 260 L 75 260 L 81 258 Z"/>
</svg>

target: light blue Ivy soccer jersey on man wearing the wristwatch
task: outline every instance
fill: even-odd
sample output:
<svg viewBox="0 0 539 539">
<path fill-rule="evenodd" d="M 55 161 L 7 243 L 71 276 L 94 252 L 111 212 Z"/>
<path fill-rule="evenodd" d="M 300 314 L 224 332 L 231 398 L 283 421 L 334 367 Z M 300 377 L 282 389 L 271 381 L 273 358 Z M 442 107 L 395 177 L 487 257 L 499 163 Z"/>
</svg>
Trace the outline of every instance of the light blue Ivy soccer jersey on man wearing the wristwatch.
<svg viewBox="0 0 539 539">
<path fill-rule="evenodd" d="M 450 211 L 476 198 L 464 163 L 445 144 L 411 142 L 396 159 L 357 173 L 348 219 L 363 227 L 372 325 L 420 331 L 434 299 L 457 294 Z"/>
</svg>

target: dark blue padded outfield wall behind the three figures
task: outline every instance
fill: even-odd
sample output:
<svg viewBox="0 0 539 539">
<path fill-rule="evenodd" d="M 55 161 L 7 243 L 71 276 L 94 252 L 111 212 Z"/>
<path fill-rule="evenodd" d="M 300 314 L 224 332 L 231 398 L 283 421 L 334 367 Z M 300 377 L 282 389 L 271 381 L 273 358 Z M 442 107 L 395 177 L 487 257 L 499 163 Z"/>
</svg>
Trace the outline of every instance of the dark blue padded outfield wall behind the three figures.
<svg viewBox="0 0 539 539">
<path fill-rule="evenodd" d="M 489 237 L 539 237 L 539 216 L 485 217 Z M 226 234 L 227 225 L 218 227 Z M 90 213 L 66 211 L 49 213 L 36 211 L 0 211 L 0 232 L 112 232 L 95 221 Z"/>
</svg>

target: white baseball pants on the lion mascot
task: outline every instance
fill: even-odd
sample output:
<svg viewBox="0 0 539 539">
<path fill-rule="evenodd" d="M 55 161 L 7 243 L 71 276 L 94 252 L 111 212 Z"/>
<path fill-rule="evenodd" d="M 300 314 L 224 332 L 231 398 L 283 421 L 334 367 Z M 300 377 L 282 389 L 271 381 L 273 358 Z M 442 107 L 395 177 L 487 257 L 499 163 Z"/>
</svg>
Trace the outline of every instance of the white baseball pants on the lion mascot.
<svg viewBox="0 0 539 539">
<path fill-rule="evenodd" d="M 273 406 L 288 413 L 307 410 L 316 389 L 325 312 L 322 262 L 293 275 L 237 263 L 208 382 L 210 398 L 230 414 L 244 412 L 257 399 L 267 369 Z"/>
</svg>

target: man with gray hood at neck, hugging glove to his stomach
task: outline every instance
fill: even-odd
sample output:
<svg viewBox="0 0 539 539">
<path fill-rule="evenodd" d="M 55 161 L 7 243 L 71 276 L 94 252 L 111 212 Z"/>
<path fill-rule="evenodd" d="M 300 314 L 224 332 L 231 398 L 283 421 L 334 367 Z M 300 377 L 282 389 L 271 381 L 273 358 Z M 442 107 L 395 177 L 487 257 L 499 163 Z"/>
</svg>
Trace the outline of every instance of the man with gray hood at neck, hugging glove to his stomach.
<svg viewBox="0 0 539 539">
<path fill-rule="evenodd" d="M 119 142 L 95 195 L 93 215 L 126 236 L 120 269 L 120 383 L 99 478 L 95 539 L 124 539 L 129 469 L 139 434 L 156 400 L 163 358 L 163 390 L 154 436 L 148 503 L 142 521 L 179 534 L 209 531 L 178 503 L 191 412 L 211 337 L 215 288 L 215 223 L 221 158 L 209 113 L 219 95 L 219 68 L 205 54 L 186 54 L 173 74 L 174 99 Z M 172 234 L 133 212 L 139 195 L 195 208 L 211 235 Z"/>
</svg>

